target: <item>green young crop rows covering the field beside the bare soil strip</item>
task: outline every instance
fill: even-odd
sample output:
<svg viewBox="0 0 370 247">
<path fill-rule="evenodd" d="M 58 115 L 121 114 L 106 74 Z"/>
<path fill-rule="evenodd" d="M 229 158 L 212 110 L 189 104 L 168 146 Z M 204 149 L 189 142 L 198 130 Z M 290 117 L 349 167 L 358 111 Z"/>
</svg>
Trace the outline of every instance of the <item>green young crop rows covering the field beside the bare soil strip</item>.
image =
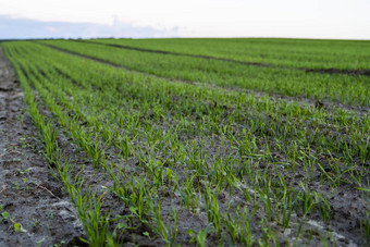
<svg viewBox="0 0 370 247">
<path fill-rule="evenodd" d="M 178 47 L 173 40 L 97 41 L 149 48 L 164 42 L 168 47 L 158 49 L 181 51 L 187 46 L 183 40 L 177 40 L 183 44 Z M 245 42 L 231 41 L 236 47 Z M 335 244 L 303 225 L 319 218 L 331 226 L 336 198 L 330 198 L 346 187 L 355 188 L 361 203 L 368 201 L 370 118 L 356 110 L 358 103 L 370 106 L 367 77 L 245 66 L 101 44 L 1 45 L 20 76 L 47 162 L 69 192 L 89 245 L 113 246 L 145 227 L 150 232 L 138 234 L 159 237 L 165 245 L 184 244 L 180 219 L 186 211 L 207 215 L 208 226 L 188 231 L 190 243 L 199 246 L 280 245 L 285 230 L 293 230 L 285 243 Z M 236 55 L 207 47 L 193 48 L 215 57 Z M 303 62 L 308 57 L 274 54 L 288 58 L 280 60 L 287 66 L 323 66 L 320 60 Z M 333 67 L 353 66 L 319 54 Z M 86 157 L 86 164 L 77 169 L 64 157 L 61 134 L 76 147 L 75 156 Z M 106 194 L 97 194 L 85 181 L 89 164 L 107 175 L 111 186 L 104 193 L 123 203 L 126 214 L 102 213 Z M 365 243 L 367 221 L 360 227 Z"/>
</svg>

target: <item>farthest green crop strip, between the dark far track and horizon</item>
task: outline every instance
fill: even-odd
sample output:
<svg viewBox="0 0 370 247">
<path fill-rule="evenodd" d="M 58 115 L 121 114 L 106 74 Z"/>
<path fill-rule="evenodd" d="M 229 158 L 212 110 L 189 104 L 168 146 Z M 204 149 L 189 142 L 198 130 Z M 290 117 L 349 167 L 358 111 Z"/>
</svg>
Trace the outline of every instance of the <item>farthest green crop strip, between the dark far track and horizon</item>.
<svg viewBox="0 0 370 247">
<path fill-rule="evenodd" d="M 367 69 L 369 41 L 295 39 L 96 39 L 140 49 L 210 55 L 278 66 Z"/>
</svg>

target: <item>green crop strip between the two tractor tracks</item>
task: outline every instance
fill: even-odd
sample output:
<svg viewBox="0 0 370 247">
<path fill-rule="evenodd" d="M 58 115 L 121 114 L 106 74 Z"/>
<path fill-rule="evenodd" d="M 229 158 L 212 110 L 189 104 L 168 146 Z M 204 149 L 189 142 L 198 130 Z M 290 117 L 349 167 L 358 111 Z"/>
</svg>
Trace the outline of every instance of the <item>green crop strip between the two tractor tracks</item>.
<svg viewBox="0 0 370 247">
<path fill-rule="evenodd" d="M 145 53 L 76 41 L 51 40 L 42 44 L 165 78 L 293 97 L 328 99 L 349 104 L 370 104 L 368 101 L 370 77 L 368 76 L 323 75 L 294 70 L 245 66 L 225 61 Z"/>
</svg>

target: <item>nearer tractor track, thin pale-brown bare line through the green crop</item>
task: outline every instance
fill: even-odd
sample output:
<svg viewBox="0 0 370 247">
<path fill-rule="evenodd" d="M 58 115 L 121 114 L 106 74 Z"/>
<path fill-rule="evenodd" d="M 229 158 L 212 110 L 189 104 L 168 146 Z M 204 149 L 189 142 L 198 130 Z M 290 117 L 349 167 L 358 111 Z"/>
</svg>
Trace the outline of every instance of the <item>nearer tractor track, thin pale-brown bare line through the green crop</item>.
<svg viewBox="0 0 370 247">
<path fill-rule="evenodd" d="M 239 88 L 239 87 L 221 87 L 221 86 L 218 86 L 218 85 L 212 84 L 212 83 L 199 83 L 199 82 L 192 82 L 192 81 L 185 81 L 185 79 L 175 79 L 175 78 L 162 77 L 162 76 L 158 76 L 158 75 L 155 75 L 155 74 L 137 71 L 137 70 L 124 66 L 124 65 L 120 65 L 120 64 L 113 63 L 113 62 L 109 62 L 109 61 L 106 61 L 103 59 L 98 59 L 98 58 L 95 58 L 95 57 L 91 57 L 91 55 L 86 55 L 86 54 L 81 54 L 81 53 L 77 53 L 77 52 L 73 52 L 73 51 L 70 51 L 70 50 L 57 47 L 57 46 L 41 44 L 41 42 L 37 42 L 37 44 L 41 45 L 41 46 L 45 46 L 45 47 L 48 47 L 48 48 L 51 48 L 51 49 L 54 49 L 54 50 L 58 50 L 58 51 L 61 51 L 61 52 L 64 52 L 64 53 L 67 53 L 67 54 L 72 54 L 72 55 L 76 55 L 76 57 L 79 57 L 79 58 L 92 60 L 92 61 L 96 61 L 96 62 L 99 62 L 99 63 L 103 63 L 103 64 L 107 64 L 107 65 L 110 65 L 110 66 L 113 66 L 113 67 L 124 69 L 124 70 L 126 70 L 128 72 L 135 72 L 135 73 L 141 74 L 141 75 L 152 76 L 152 77 L 156 77 L 156 78 L 159 78 L 159 79 L 185 83 L 185 84 L 190 84 L 190 85 L 200 85 L 200 86 L 206 86 L 207 85 L 207 87 L 210 87 L 210 88 L 220 88 L 220 89 L 226 90 L 226 91 L 227 90 L 230 90 L 230 91 L 245 91 L 247 95 L 252 94 L 252 95 L 255 95 L 257 97 L 268 96 L 268 97 L 271 97 L 271 98 L 273 98 L 273 99 L 275 99 L 278 101 L 280 101 L 280 100 L 297 101 L 300 104 L 308 106 L 310 108 L 318 108 L 319 107 L 319 108 L 323 108 L 326 111 L 333 111 L 334 109 L 344 109 L 344 110 L 353 112 L 355 114 L 363 115 L 363 114 L 367 114 L 369 112 L 369 110 L 370 110 L 370 108 L 368 108 L 368 107 L 344 104 L 344 103 L 341 103 L 341 102 L 332 102 L 330 100 L 314 100 L 314 99 L 305 98 L 305 97 L 300 97 L 300 96 L 293 97 L 293 96 L 285 96 L 285 95 L 274 94 L 274 92 L 264 92 L 264 91 L 258 91 L 258 90 L 249 90 L 249 89 L 244 89 L 244 88 Z"/>
</svg>

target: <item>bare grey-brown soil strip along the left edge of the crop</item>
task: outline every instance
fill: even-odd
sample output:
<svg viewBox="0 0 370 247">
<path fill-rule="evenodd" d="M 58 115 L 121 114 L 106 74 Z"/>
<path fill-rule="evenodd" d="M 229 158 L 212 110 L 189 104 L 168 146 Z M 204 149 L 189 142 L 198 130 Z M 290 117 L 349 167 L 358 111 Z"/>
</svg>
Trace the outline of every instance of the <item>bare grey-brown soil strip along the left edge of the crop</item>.
<svg viewBox="0 0 370 247">
<path fill-rule="evenodd" d="M 0 48 L 0 246 L 78 245 L 84 231 L 36 133 Z"/>
</svg>

